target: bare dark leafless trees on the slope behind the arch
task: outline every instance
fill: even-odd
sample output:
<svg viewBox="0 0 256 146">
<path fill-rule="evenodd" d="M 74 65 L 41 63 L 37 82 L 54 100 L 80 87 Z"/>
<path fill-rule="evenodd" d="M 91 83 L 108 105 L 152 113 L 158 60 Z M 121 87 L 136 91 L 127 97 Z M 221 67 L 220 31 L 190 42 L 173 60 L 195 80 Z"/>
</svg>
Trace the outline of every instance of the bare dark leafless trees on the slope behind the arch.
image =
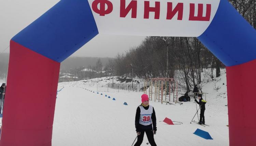
<svg viewBox="0 0 256 146">
<path fill-rule="evenodd" d="M 256 1 L 229 0 L 236 10 L 256 29 Z M 109 59 L 106 69 L 118 76 L 141 78 L 176 77 L 181 86 L 189 91 L 196 84 L 202 90 L 204 78 L 212 80 L 220 76 L 220 68 L 225 67 L 195 37 L 146 37 L 137 47 Z M 206 69 L 206 70 L 203 70 Z"/>
</svg>

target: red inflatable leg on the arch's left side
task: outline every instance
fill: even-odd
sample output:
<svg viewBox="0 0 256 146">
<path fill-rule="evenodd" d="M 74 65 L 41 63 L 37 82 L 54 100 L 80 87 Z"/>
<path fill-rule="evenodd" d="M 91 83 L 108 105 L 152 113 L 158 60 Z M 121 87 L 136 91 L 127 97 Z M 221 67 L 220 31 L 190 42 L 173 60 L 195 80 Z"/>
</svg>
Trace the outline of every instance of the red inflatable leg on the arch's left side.
<svg viewBox="0 0 256 146">
<path fill-rule="evenodd" d="M 59 68 L 59 62 L 11 41 L 1 146 L 52 145 Z"/>
</svg>

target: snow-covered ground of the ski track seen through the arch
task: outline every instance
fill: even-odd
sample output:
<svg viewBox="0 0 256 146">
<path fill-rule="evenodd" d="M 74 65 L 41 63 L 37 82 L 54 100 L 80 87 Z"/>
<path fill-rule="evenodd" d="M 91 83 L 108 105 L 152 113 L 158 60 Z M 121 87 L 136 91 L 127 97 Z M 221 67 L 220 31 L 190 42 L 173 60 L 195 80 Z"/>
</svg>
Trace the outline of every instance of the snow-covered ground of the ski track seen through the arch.
<svg viewBox="0 0 256 146">
<path fill-rule="evenodd" d="M 191 123 L 196 113 L 196 105 L 166 105 L 150 101 L 156 112 L 158 146 L 228 146 L 228 109 L 225 69 L 216 84 L 209 82 L 203 87 L 208 92 L 203 127 Z M 92 79 L 97 80 L 97 79 Z M 99 81 L 99 80 L 98 80 Z M 105 80 L 102 80 L 105 83 Z M 112 83 L 109 80 L 110 83 Z M 100 83 L 100 82 L 99 82 Z M 224 83 L 224 85 L 223 85 Z M 99 92 L 93 83 L 83 81 L 59 83 L 53 125 L 53 146 L 130 146 L 136 138 L 134 119 L 136 108 L 141 103 L 142 92 Z M 102 83 L 103 84 L 103 83 Z M 221 87 L 214 90 L 214 85 Z M 95 91 L 95 93 L 88 90 Z M 103 95 L 100 95 L 102 93 Z M 105 97 L 107 95 L 107 97 Z M 108 98 L 110 96 L 111 98 Z M 116 100 L 113 101 L 112 99 Z M 205 97 L 203 96 L 205 99 Z M 128 106 L 123 105 L 126 102 Z M 181 125 L 167 125 L 161 121 L 165 117 Z M 198 121 L 197 116 L 194 120 Z M 207 131 L 213 140 L 205 140 L 193 134 L 197 128 Z M 142 146 L 147 146 L 144 136 Z"/>
</svg>

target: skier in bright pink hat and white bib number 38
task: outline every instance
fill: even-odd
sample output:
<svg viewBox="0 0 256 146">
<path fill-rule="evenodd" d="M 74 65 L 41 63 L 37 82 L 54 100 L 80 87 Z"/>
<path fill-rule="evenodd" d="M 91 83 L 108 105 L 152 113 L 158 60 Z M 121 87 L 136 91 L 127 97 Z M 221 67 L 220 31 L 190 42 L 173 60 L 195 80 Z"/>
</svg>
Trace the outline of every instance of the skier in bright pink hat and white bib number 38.
<svg viewBox="0 0 256 146">
<path fill-rule="evenodd" d="M 142 104 L 137 108 L 135 116 L 135 128 L 138 135 L 134 146 L 140 146 L 146 132 L 148 142 L 151 146 L 156 146 L 154 134 L 156 134 L 156 113 L 153 106 L 149 105 L 147 94 L 141 96 Z M 152 129 L 153 124 L 153 129 Z"/>
</svg>

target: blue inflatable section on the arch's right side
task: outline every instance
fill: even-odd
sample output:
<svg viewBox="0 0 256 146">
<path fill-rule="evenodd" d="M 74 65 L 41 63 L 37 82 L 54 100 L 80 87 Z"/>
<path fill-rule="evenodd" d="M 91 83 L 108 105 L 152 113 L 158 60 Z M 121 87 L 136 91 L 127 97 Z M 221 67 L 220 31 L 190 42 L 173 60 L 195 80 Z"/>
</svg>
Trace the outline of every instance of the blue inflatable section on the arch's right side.
<svg viewBox="0 0 256 146">
<path fill-rule="evenodd" d="M 256 30 L 228 0 L 220 1 L 213 21 L 198 39 L 226 66 L 256 59 Z"/>
</svg>

